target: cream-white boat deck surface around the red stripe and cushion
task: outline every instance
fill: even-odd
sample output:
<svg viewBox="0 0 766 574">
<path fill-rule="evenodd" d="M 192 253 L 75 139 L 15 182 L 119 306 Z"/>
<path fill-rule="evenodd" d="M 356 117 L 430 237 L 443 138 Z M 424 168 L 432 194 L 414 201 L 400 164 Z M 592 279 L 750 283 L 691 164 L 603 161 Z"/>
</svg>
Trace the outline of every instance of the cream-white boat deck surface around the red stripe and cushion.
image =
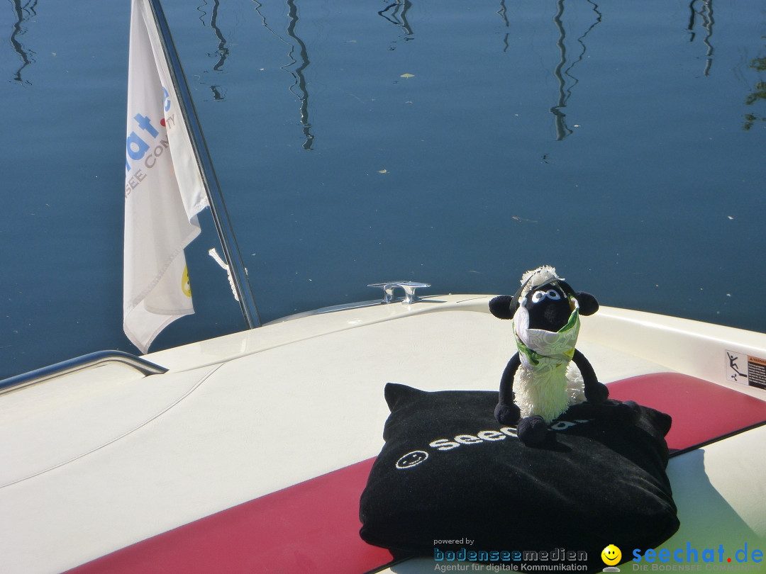
<svg viewBox="0 0 766 574">
<path fill-rule="evenodd" d="M 146 355 L 162 375 L 106 365 L 0 396 L 0 572 L 61 572 L 371 458 L 385 383 L 495 390 L 515 348 L 488 301 L 310 315 Z M 725 372 L 727 348 L 766 357 L 764 334 L 613 308 L 582 325 L 578 348 L 605 383 L 677 370 L 766 394 Z M 766 547 L 764 443 L 761 427 L 673 458 L 670 546 Z M 391 572 L 434 569 L 419 563 Z"/>
</svg>

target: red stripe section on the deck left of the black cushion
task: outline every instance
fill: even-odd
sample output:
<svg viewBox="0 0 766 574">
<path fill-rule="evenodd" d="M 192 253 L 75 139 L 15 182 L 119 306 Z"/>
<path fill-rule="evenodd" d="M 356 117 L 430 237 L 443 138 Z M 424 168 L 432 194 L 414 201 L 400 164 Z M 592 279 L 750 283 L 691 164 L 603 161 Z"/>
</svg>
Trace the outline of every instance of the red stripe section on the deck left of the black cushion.
<svg viewBox="0 0 766 574">
<path fill-rule="evenodd" d="M 393 560 L 388 550 L 359 538 L 359 497 L 372 461 L 222 510 L 70 572 L 368 572 Z"/>
</svg>

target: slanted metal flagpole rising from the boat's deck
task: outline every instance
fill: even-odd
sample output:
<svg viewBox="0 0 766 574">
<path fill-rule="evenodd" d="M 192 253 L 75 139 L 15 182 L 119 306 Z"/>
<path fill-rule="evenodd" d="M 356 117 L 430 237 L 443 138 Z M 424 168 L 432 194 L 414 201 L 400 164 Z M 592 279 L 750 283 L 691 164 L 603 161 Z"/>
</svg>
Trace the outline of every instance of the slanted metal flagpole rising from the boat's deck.
<svg viewBox="0 0 766 574">
<path fill-rule="evenodd" d="M 242 315 L 244 315 L 245 321 L 247 321 L 248 328 L 260 327 L 260 317 L 255 306 L 253 292 L 250 289 L 250 282 L 247 280 L 247 272 L 245 272 L 242 256 L 237 247 L 237 239 L 231 227 L 226 204 L 224 204 L 224 196 L 221 194 L 218 178 L 215 176 L 208 145 L 205 143 L 205 136 L 202 134 L 202 129 L 199 125 L 194 102 L 191 99 L 184 70 L 181 67 L 181 60 L 178 57 L 178 52 L 175 51 L 175 44 L 173 44 L 173 39 L 170 35 L 168 21 L 165 20 L 165 12 L 162 11 L 159 0 L 148 0 L 148 2 L 149 7 L 152 8 L 152 15 L 159 31 L 159 39 L 162 41 L 162 50 L 165 52 L 165 60 L 168 62 L 173 87 L 178 97 L 178 105 L 181 106 L 182 116 L 189 139 L 191 139 L 191 147 L 194 149 L 195 158 L 202 174 L 202 181 L 208 194 L 208 204 L 210 204 L 215 228 L 218 230 L 218 239 L 221 240 L 221 247 L 224 249 L 224 256 L 229 266 L 231 278 L 234 281 L 234 289 L 237 291 Z"/>
</svg>

